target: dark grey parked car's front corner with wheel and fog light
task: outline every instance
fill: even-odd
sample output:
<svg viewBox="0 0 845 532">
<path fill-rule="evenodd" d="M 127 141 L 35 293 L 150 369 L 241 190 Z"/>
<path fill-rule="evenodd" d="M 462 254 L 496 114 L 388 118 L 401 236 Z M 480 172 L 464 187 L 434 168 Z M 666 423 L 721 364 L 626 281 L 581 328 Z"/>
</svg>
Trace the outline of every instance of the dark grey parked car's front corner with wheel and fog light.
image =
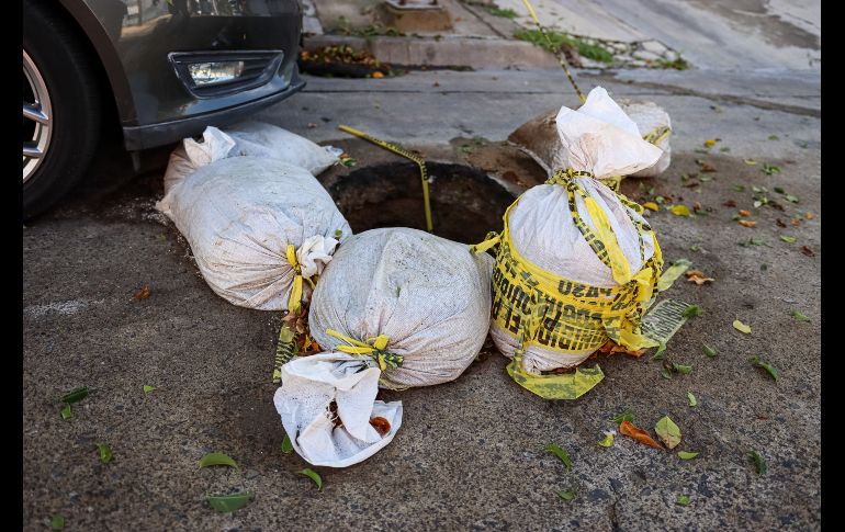
<svg viewBox="0 0 845 532">
<path fill-rule="evenodd" d="M 128 150 L 301 90 L 296 0 L 24 0 L 23 212 L 53 205 L 116 116 Z"/>
</svg>

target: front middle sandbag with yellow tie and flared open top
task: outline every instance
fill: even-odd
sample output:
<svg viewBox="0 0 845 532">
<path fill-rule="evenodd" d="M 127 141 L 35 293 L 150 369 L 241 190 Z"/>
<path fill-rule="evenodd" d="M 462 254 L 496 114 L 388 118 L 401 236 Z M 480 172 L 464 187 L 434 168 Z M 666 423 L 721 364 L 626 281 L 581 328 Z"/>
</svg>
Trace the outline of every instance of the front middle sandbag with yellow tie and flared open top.
<svg viewBox="0 0 845 532">
<path fill-rule="evenodd" d="M 388 443 L 402 419 L 399 401 L 373 401 L 379 386 L 458 378 L 487 336 L 492 268 L 491 257 L 417 229 L 347 240 L 308 314 L 311 333 L 329 352 L 283 365 L 274 396 L 297 453 L 315 465 L 360 462 Z"/>
</svg>

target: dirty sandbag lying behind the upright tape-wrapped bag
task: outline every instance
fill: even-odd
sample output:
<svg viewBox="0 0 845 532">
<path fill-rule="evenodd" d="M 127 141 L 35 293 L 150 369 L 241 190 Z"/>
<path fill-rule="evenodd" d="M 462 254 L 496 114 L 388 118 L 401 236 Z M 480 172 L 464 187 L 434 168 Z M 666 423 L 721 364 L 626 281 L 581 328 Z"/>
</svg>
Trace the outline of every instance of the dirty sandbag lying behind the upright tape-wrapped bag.
<svg viewBox="0 0 845 532">
<path fill-rule="evenodd" d="M 636 124 L 643 138 L 663 150 L 657 162 L 632 173 L 636 178 L 653 178 L 663 173 L 672 161 L 672 122 L 663 107 L 654 102 L 620 100 L 619 106 Z M 551 177 L 560 169 L 570 168 L 568 150 L 557 135 L 557 113 L 554 109 L 526 122 L 508 136 L 508 140 L 528 154 Z"/>
</svg>

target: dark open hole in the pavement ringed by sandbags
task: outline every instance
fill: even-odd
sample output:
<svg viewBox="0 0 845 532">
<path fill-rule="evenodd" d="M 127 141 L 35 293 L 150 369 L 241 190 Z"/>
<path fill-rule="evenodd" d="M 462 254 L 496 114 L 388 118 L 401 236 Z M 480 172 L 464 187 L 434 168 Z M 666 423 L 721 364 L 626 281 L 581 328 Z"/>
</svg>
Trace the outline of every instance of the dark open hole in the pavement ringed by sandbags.
<svg viewBox="0 0 845 532">
<path fill-rule="evenodd" d="M 463 165 L 427 162 L 431 219 L 437 236 L 464 244 L 502 230 L 502 215 L 515 196 L 483 171 Z M 419 167 L 413 162 L 356 170 L 328 189 L 352 230 L 376 227 L 426 228 Z"/>
</svg>

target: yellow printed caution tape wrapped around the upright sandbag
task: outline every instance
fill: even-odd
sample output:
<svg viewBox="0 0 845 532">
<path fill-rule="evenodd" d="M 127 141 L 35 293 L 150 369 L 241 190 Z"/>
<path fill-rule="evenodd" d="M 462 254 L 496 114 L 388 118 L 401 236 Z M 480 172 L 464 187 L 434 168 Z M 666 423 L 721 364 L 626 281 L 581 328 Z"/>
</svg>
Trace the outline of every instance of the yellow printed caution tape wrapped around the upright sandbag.
<svg viewBox="0 0 845 532">
<path fill-rule="evenodd" d="M 578 283 L 545 271 L 522 257 L 508 228 L 510 211 L 519 199 L 503 216 L 502 235 L 473 248 L 480 253 L 498 245 L 493 271 L 493 321 L 518 344 L 507 370 L 516 382 L 547 399 L 577 398 L 598 384 L 604 374 L 598 365 L 577 369 L 570 374 L 529 373 L 522 366 L 522 354 L 530 346 L 559 353 L 595 351 L 608 339 L 630 350 L 656 346 L 639 330 L 647 304 L 657 293 L 663 268 L 656 236 L 647 224 L 629 214 L 638 230 L 643 263 L 639 272 L 632 272 L 606 213 L 578 184 L 579 179 L 593 179 L 593 174 L 570 169 L 556 172 L 547 183 L 565 186 L 575 226 L 610 269 L 619 286 L 599 287 Z M 595 228 L 582 219 L 576 208 L 576 195 L 584 200 Z M 618 199 L 626 207 L 642 212 L 640 205 L 623 195 L 618 194 Z M 654 245 L 654 252 L 647 260 L 644 257 L 646 239 Z"/>
</svg>

